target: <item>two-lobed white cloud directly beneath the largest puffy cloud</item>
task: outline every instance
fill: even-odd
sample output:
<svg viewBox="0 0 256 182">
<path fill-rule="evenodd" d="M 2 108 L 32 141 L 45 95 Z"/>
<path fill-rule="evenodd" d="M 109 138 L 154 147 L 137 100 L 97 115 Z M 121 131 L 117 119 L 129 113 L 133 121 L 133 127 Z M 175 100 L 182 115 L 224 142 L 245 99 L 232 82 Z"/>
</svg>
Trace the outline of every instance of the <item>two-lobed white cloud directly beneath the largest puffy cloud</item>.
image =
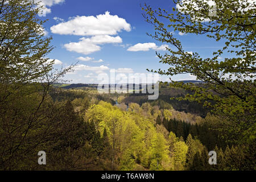
<svg viewBox="0 0 256 182">
<path fill-rule="evenodd" d="M 68 51 L 75 51 L 88 55 L 90 53 L 100 51 L 101 47 L 97 44 L 106 44 L 106 43 L 121 43 L 122 39 L 119 36 L 109 36 L 109 35 L 96 35 L 92 38 L 81 38 L 79 42 L 71 42 L 64 44 L 64 47 Z"/>
</svg>

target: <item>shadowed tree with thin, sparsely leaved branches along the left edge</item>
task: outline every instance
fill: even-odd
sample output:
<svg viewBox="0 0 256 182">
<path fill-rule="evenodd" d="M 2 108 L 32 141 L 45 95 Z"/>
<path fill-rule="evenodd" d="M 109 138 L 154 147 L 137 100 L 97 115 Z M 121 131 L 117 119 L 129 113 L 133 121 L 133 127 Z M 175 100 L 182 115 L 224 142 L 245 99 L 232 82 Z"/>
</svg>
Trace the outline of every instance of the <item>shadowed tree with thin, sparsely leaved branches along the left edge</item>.
<svg viewBox="0 0 256 182">
<path fill-rule="evenodd" d="M 31 0 L 0 1 L 0 169 L 33 169 L 35 149 L 58 123 L 48 90 L 71 67 L 53 70 L 40 10 Z"/>
</svg>

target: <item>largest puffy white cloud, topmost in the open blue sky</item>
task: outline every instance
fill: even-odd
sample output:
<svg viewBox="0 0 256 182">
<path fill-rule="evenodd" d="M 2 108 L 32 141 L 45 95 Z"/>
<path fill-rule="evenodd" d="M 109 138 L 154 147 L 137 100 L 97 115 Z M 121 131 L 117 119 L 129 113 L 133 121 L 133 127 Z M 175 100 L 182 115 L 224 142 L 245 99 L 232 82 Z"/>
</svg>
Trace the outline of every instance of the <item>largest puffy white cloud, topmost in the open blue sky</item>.
<svg viewBox="0 0 256 182">
<path fill-rule="evenodd" d="M 122 30 L 131 31 L 131 25 L 117 15 L 105 14 L 95 16 L 76 16 L 68 22 L 51 27 L 54 34 L 61 35 L 116 35 Z"/>
</svg>

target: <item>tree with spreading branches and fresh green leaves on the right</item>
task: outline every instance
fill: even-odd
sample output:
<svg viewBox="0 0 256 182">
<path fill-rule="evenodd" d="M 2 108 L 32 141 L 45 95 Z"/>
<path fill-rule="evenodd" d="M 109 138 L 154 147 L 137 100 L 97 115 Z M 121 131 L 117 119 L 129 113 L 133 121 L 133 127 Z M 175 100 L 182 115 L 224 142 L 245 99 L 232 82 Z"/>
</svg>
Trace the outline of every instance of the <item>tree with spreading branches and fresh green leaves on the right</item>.
<svg viewBox="0 0 256 182">
<path fill-rule="evenodd" d="M 148 34 L 167 43 L 170 54 L 157 53 L 160 63 L 170 65 L 160 75 L 173 76 L 191 73 L 204 85 L 183 84 L 172 81 L 170 86 L 191 91 L 180 100 L 203 102 L 219 117 L 232 122 L 227 132 L 237 135 L 239 142 L 252 142 L 255 134 L 255 6 L 247 0 L 176 0 L 173 13 L 142 7 L 144 18 L 155 27 L 155 34 Z M 162 20 L 168 20 L 164 24 Z M 224 42 L 212 57 L 203 58 L 197 52 L 189 53 L 175 38 L 173 31 L 181 34 L 206 35 L 216 42 Z M 221 44 L 221 43 L 220 43 Z M 223 61 L 218 58 L 226 57 Z M 241 130 L 243 131 L 241 134 Z"/>
</svg>

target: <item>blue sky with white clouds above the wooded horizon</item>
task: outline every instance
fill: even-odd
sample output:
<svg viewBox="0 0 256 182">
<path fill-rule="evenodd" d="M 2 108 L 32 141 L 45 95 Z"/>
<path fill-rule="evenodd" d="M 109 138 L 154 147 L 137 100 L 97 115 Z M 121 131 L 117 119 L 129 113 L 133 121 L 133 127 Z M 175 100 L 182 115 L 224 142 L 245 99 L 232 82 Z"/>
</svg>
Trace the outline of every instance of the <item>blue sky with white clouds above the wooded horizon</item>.
<svg viewBox="0 0 256 182">
<path fill-rule="evenodd" d="M 146 35 L 153 33 L 154 27 L 142 16 L 144 3 L 155 9 L 175 7 L 172 0 L 43 0 L 41 5 L 46 9 L 39 16 L 48 19 L 44 29 L 46 36 L 53 38 L 51 44 L 55 48 L 48 55 L 49 59 L 55 59 L 53 67 L 67 68 L 77 63 L 74 72 L 64 77 L 71 83 L 100 83 L 98 75 L 104 73 L 110 77 L 112 69 L 123 80 L 129 74 L 148 74 L 147 68 L 168 69 L 168 65 L 159 63 L 155 53 L 166 53 L 168 45 Z M 180 32 L 174 35 L 185 51 L 199 52 L 202 57 L 212 56 L 213 50 L 222 46 L 206 36 Z M 171 78 L 196 79 L 189 73 Z M 168 81 L 169 77 L 159 80 Z"/>
</svg>

